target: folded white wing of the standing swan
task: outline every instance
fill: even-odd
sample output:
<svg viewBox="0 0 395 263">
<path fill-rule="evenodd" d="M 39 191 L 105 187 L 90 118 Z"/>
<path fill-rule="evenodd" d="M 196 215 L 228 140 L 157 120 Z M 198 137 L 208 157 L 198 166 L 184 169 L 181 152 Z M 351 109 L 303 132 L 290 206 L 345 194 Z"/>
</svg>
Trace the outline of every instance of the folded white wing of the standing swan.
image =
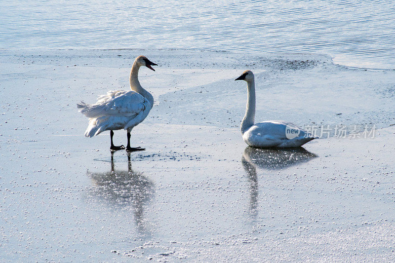
<svg viewBox="0 0 395 263">
<path fill-rule="evenodd" d="M 96 104 L 85 105 L 80 112 L 89 118 L 102 116 L 135 116 L 146 109 L 149 102 L 134 91 L 109 91 Z"/>
</svg>

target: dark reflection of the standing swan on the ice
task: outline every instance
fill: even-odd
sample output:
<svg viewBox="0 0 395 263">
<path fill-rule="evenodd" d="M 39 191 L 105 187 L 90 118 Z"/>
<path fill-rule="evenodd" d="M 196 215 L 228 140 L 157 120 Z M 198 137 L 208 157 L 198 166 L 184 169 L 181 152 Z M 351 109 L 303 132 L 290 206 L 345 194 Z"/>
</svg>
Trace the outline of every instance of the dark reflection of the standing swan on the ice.
<svg viewBox="0 0 395 263">
<path fill-rule="evenodd" d="M 111 170 L 104 173 L 87 172 L 94 189 L 91 195 L 116 209 L 131 209 L 140 233 L 146 233 L 144 211 L 155 193 L 154 183 L 143 173 L 132 169 L 130 153 L 127 153 L 128 170 L 115 169 L 114 152 L 111 152 Z"/>
</svg>

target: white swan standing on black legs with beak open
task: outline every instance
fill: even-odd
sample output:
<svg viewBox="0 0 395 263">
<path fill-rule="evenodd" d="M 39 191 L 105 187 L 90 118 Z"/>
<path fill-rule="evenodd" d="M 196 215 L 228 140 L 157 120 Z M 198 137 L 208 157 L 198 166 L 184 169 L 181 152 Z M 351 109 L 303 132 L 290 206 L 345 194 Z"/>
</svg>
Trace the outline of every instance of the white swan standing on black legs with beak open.
<svg viewBox="0 0 395 263">
<path fill-rule="evenodd" d="M 106 95 L 98 98 L 95 104 L 77 104 L 79 112 L 89 118 L 89 125 L 85 131 L 86 137 L 98 135 L 110 130 L 111 150 L 125 149 L 123 145 L 114 146 L 113 130 L 125 129 L 127 131 L 127 151 L 145 150 L 143 148 L 130 147 L 130 132 L 142 122 L 154 105 L 154 97 L 145 90 L 138 80 L 138 72 L 141 66 L 155 71 L 151 66 L 158 66 L 144 56 L 138 56 L 130 71 L 131 90 L 109 91 Z"/>
</svg>

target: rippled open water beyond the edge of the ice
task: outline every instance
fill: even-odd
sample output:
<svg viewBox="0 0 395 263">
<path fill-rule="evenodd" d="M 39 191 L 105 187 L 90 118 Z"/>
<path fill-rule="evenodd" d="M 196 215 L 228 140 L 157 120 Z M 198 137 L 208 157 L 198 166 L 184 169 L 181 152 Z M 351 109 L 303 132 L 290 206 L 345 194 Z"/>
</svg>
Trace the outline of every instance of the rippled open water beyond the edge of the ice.
<svg viewBox="0 0 395 263">
<path fill-rule="evenodd" d="M 393 0 L 1 0 L 0 48 L 324 53 L 395 68 Z"/>
</svg>

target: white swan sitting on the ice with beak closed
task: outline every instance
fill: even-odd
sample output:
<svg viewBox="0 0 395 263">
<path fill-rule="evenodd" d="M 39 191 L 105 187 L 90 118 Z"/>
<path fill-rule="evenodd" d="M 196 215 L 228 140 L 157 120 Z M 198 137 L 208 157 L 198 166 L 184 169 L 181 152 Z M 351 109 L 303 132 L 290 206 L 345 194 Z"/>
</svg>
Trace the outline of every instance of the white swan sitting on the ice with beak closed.
<svg viewBox="0 0 395 263">
<path fill-rule="evenodd" d="M 255 120 L 255 80 L 251 71 L 244 71 L 235 80 L 247 81 L 247 106 L 241 121 L 241 134 L 246 144 L 259 148 L 299 147 L 316 137 L 292 123 L 269 120 L 254 124 Z"/>
</svg>

